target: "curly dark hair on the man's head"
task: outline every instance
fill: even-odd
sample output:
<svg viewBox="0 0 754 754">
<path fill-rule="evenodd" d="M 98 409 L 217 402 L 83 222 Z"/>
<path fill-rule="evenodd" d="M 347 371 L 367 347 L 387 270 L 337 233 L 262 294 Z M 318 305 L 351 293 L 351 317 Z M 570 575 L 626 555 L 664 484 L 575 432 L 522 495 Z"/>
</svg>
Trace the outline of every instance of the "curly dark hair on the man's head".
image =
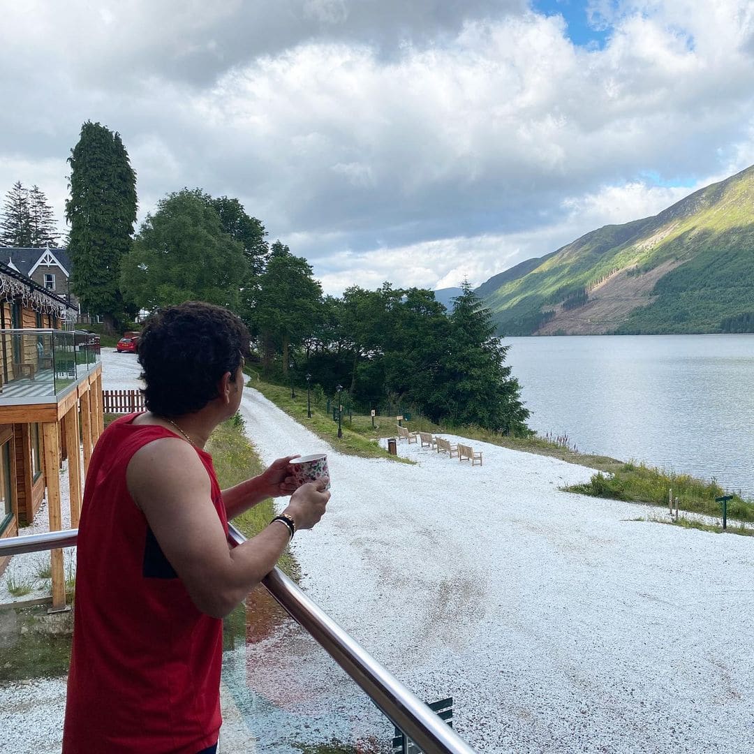
<svg viewBox="0 0 754 754">
<path fill-rule="evenodd" d="M 187 301 L 157 311 L 139 339 L 147 409 L 159 416 L 203 409 L 217 397 L 222 375 L 235 375 L 248 351 L 246 325 L 222 306 Z"/>
</svg>

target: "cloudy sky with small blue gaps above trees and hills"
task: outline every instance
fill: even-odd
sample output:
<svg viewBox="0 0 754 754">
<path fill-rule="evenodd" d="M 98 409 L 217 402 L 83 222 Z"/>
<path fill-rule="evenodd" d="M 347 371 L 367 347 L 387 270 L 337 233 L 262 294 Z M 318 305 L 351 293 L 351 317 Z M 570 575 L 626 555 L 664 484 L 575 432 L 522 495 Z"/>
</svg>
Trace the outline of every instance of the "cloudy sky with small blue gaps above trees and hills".
<svg viewBox="0 0 754 754">
<path fill-rule="evenodd" d="M 325 293 L 476 286 L 754 163 L 751 0 L 0 0 L 0 194 L 81 124 L 139 222 L 238 198 Z"/>
</svg>

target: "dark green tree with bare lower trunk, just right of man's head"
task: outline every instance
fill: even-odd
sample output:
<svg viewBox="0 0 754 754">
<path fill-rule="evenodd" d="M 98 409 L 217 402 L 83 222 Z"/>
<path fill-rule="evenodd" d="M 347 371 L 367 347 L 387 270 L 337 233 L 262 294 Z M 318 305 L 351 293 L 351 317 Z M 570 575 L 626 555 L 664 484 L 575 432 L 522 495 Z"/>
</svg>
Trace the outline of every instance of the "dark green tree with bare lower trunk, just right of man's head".
<svg viewBox="0 0 754 754">
<path fill-rule="evenodd" d="M 310 337 L 322 320 L 322 287 L 312 275 L 306 259 L 293 256 L 280 241 L 271 245 L 251 312 L 262 342 L 265 371 L 270 367 L 273 350 L 280 348 L 283 373 L 287 375 L 291 346 Z"/>
</svg>

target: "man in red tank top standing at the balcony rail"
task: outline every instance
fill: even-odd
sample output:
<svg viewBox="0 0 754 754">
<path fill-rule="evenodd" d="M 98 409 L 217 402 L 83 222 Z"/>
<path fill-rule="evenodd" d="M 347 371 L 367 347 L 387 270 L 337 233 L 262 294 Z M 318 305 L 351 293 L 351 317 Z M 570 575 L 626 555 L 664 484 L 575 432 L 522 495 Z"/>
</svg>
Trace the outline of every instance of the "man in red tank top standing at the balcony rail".
<svg viewBox="0 0 754 754">
<path fill-rule="evenodd" d="M 204 445 L 238 410 L 248 346 L 238 317 L 198 302 L 144 328 L 149 410 L 114 421 L 87 472 L 63 754 L 214 752 L 222 618 L 324 513 L 326 480 L 296 489 L 293 455 L 219 489 Z M 278 495 L 283 514 L 231 550 L 228 518 Z"/>
</svg>

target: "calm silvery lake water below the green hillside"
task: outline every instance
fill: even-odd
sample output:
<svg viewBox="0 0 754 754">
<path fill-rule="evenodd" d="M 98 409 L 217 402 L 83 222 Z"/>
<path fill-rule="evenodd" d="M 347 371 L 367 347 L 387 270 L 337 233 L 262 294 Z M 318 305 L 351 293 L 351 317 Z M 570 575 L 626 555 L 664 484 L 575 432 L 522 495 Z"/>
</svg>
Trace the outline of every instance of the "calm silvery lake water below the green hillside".
<svg viewBox="0 0 754 754">
<path fill-rule="evenodd" d="M 507 338 L 541 434 L 754 496 L 754 334 Z"/>
</svg>

